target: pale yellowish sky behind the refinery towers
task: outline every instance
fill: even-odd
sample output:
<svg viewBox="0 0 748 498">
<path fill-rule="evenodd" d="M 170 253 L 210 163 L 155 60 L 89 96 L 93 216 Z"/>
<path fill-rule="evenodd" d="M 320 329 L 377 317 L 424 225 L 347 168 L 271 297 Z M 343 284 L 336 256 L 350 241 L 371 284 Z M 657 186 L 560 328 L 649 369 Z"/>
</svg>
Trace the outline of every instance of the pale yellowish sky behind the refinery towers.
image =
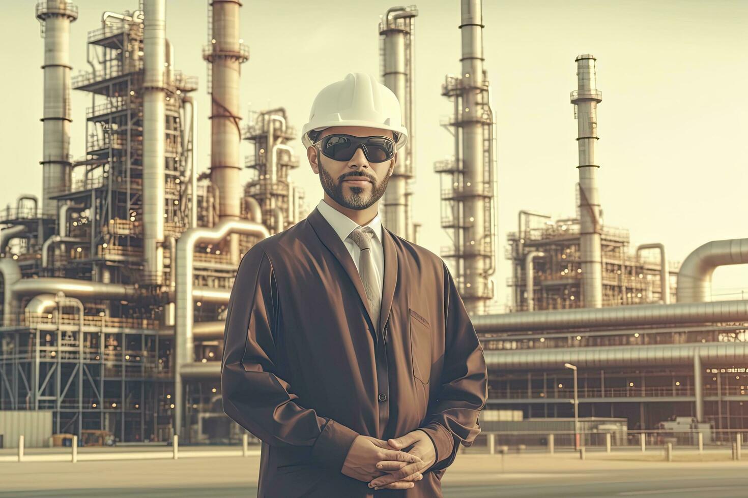
<svg viewBox="0 0 748 498">
<path fill-rule="evenodd" d="M 73 75 L 88 70 L 86 34 L 105 10 L 135 10 L 135 0 L 79 0 L 71 28 Z M 41 195 L 43 40 L 36 1 L 4 2 L 0 137 L 4 181 L 0 206 L 22 193 Z M 169 0 L 167 36 L 175 67 L 197 75 L 200 170 L 209 167 L 206 1 Z M 242 66 L 242 116 L 249 108 L 283 106 L 297 129 L 316 93 L 348 72 L 378 75 L 378 21 L 395 3 L 381 0 L 247 0 L 242 37 L 250 60 Z M 417 187 L 414 218 L 420 245 L 438 254 L 449 239 L 439 225 L 435 161 L 452 140 L 438 123 L 451 105 L 440 95 L 447 73 L 459 73 L 459 0 L 417 3 Z M 506 232 L 521 209 L 554 218 L 574 216 L 578 179 L 577 122 L 568 95 L 576 89 L 574 57 L 597 57 L 597 157 L 607 225 L 628 228 L 631 248 L 661 242 L 682 261 L 710 240 L 747 237 L 748 174 L 747 1 L 498 1 L 484 0 L 485 69 L 494 93 L 498 138 L 498 239 L 495 308 L 509 303 L 503 257 Z M 85 153 L 90 94 L 73 90 L 71 153 Z M 307 208 L 322 198 L 300 140 Z M 241 158 L 251 150 L 242 144 Z M 242 171 L 243 181 L 250 172 Z M 653 255 L 656 257 L 656 255 Z M 740 299 L 748 265 L 714 272 L 714 300 Z M 748 293 L 747 293 L 748 294 Z"/>
</svg>

